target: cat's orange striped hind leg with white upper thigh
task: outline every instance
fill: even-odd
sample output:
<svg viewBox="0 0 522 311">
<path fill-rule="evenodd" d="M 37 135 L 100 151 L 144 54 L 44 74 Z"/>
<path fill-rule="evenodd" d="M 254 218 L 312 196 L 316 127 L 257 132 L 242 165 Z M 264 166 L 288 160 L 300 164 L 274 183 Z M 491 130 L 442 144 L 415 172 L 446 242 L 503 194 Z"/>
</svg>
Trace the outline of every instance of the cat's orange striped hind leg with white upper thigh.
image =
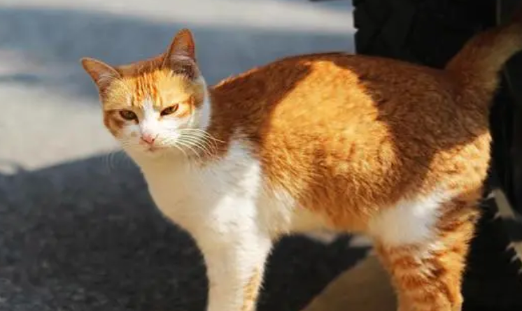
<svg viewBox="0 0 522 311">
<path fill-rule="evenodd" d="M 374 219 L 376 251 L 390 273 L 399 311 L 461 310 L 461 279 L 478 216 L 476 197 L 404 202 Z"/>
</svg>

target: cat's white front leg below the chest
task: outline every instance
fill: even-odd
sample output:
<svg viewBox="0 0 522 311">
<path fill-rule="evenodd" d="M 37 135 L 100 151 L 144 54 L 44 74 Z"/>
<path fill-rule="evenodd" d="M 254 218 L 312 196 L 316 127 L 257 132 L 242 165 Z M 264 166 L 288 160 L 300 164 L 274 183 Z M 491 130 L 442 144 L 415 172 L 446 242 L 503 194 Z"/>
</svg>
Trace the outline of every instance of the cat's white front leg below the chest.
<svg viewBox="0 0 522 311">
<path fill-rule="evenodd" d="M 255 310 L 272 243 L 254 219 L 241 218 L 216 217 L 195 235 L 209 279 L 207 311 Z"/>
</svg>

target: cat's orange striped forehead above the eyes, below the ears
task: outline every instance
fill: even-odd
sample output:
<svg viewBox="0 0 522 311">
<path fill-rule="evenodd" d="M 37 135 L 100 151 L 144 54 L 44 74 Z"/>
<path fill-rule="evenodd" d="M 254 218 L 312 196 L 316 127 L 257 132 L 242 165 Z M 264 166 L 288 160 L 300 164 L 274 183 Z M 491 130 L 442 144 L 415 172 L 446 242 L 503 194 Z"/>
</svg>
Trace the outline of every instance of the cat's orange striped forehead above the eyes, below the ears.
<svg viewBox="0 0 522 311">
<path fill-rule="evenodd" d="M 106 108 L 142 108 L 149 103 L 156 108 L 164 108 L 173 103 L 187 101 L 193 96 L 199 97 L 201 92 L 197 83 L 182 75 L 174 75 L 167 70 L 150 71 L 124 76 L 115 83 L 108 94 Z"/>
</svg>

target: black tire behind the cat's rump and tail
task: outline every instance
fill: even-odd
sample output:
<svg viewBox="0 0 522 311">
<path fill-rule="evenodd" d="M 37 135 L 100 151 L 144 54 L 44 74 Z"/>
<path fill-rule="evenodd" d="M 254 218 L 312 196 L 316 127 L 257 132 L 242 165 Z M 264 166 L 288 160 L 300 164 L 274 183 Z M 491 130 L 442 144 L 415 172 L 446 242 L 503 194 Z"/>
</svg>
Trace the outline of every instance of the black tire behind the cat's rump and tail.
<svg viewBox="0 0 522 311">
<path fill-rule="evenodd" d="M 442 68 L 514 2 L 519 0 L 353 0 L 356 51 Z M 516 210 L 522 209 L 522 107 L 514 100 L 522 99 L 522 57 L 510 62 L 508 71 L 491 111 L 493 161 L 486 195 L 495 190 L 496 196 L 484 201 L 472 242 L 463 284 L 464 310 L 469 311 L 522 310 L 522 251 L 509 247 L 522 241 Z M 500 212 L 506 204 L 510 216 Z"/>
</svg>

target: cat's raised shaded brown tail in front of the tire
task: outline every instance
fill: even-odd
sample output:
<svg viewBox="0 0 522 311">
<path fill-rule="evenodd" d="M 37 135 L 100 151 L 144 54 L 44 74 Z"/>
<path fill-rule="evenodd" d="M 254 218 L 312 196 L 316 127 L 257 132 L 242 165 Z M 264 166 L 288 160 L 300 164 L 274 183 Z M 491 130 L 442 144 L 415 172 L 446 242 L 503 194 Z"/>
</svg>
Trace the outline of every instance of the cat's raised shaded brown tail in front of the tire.
<svg viewBox="0 0 522 311">
<path fill-rule="evenodd" d="M 482 105 L 490 105 L 498 87 L 499 72 L 521 50 L 522 5 L 519 5 L 507 24 L 471 38 L 445 69 L 460 80 L 464 91 L 472 92 Z"/>
</svg>

